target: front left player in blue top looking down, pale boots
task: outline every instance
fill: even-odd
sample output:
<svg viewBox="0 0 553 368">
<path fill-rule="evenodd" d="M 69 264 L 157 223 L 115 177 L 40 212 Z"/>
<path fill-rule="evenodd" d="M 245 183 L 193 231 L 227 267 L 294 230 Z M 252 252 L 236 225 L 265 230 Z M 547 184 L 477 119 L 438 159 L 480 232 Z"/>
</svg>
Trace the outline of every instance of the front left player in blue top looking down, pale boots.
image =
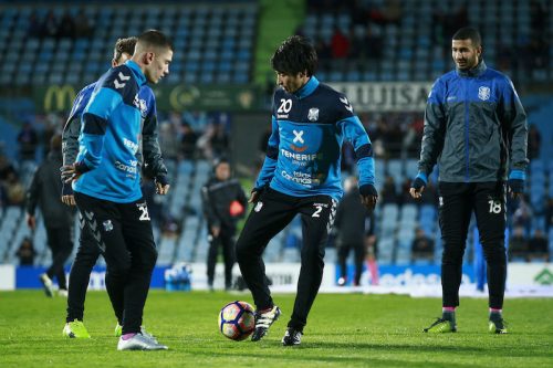
<svg viewBox="0 0 553 368">
<path fill-rule="evenodd" d="M 124 296 L 118 350 L 167 349 L 140 332 L 157 250 L 136 154 L 142 133 L 138 92 L 146 82 L 157 83 L 167 75 L 171 60 L 173 45 L 165 34 L 155 30 L 140 34 L 133 57 L 96 83 L 83 112 L 75 164 L 62 168 L 103 251 L 111 288 Z"/>
</svg>

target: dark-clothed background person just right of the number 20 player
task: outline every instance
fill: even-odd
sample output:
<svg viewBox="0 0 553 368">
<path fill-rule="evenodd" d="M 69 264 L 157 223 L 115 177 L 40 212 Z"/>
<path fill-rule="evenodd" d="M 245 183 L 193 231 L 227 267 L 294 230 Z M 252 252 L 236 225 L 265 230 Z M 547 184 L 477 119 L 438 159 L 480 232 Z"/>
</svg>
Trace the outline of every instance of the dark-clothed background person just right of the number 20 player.
<svg viewBox="0 0 553 368">
<path fill-rule="evenodd" d="M 361 202 L 358 181 L 355 177 L 348 177 L 344 180 L 344 197 L 341 199 L 334 229 L 337 236 L 337 253 L 341 270 L 338 286 L 347 284 L 347 264 L 346 260 L 349 251 L 354 251 L 355 274 L 353 285 L 361 284 L 363 273 L 363 261 L 365 260 L 366 236 L 374 232 L 374 218 L 372 212 Z M 368 225 L 367 225 L 368 222 Z"/>
</svg>

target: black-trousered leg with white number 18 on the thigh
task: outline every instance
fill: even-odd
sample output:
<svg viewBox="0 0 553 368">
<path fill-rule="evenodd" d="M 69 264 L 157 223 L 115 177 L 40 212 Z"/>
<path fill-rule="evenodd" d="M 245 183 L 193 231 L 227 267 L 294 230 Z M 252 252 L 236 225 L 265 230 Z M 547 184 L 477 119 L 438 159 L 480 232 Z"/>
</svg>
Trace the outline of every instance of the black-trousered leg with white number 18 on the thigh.
<svg viewBox="0 0 553 368">
<path fill-rule="evenodd" d="M 490 332 L 504 334 L 502 308 L 505 293 L 505 189 L 502 182 L 482 182 L 474 189 L 477 224 L 488 265 Z"/>
</svg>

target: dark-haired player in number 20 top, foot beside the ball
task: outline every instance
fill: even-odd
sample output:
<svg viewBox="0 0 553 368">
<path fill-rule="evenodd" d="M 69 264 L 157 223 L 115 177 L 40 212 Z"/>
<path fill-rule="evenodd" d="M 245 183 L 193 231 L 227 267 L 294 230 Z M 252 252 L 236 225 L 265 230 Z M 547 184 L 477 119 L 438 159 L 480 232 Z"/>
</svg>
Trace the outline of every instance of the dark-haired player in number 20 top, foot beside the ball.
<svg viewBox="0 0 553 368">
<path fill-rule="evenodd" d="M 286 39 L 271 64 L 280 88 L 274 93 L 267 157 L 251 192 L 251 211 L 237 242 L 237 260 L 257 306 L 252 340 L 267 335 L 281 311 L 274 305 L 261 257 L 269 241 L 301 214 L 303 245 L 294 311 L 282 339 L 299 345 L 321 285 L 324 245 L 342 197 L 341 148 L 352 143 L 359 169 L 362 202 L 374 209 L 371 140 L 347 98 L 313 75 L 317 55 L 302 36 Z"/>
</svg>

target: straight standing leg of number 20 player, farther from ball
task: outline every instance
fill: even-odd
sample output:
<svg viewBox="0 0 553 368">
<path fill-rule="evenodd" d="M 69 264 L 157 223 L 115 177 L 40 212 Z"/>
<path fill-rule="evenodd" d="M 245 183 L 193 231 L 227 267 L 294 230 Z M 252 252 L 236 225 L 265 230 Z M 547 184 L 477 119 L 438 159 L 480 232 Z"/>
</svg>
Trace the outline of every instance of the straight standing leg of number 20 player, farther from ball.
<svg viewBox="0 0 553 368">
<path fill-rule="evenodd" d="M 282 339 L 284 345 L 298 345 L 301 341 L 303 327 L 307 323 L 307 315 L 323 280 L 324 246 L 334 222 L 336 204 L 336 200 L 328 196 L 310 197 L 301 201 L 302 265 L 294 312 L 288 324 L 288 337 Z"/>
</svg>

